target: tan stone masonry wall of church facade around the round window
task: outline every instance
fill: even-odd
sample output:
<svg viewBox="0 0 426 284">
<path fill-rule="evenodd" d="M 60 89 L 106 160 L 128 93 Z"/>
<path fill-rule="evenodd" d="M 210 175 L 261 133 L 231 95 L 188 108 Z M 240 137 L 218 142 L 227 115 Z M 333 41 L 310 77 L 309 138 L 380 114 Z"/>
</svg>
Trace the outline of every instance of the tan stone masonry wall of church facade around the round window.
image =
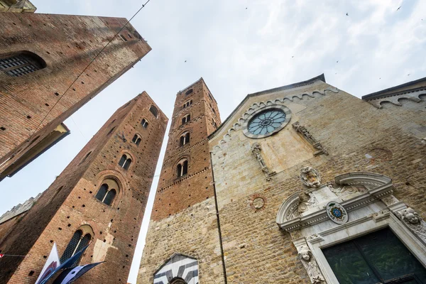
<svg viewBox="0 0 426 284">
<path fill-rule="evenodd" d="M 422 111 L 403 107 L 376 109 L 342 90 L 334 93 L 324 89 L 334 87 L 317 81 L 305 87 L 249 97 L 209 141 L 214 153 L 212 163 L 228 283 L 310 283 L 290 235 L 280 231 L 275 223 L 280 204 L 302 188 L 298 176 L 302 166 L 316 168 L 322 182 L 354 171 L 387 175 L 393 178 L 395 197 L 426 217 L 426 177 L 422 173 L 426 166 L 426 141 L 421 139 L 426 134 L 422 132 L 426 118 Z M 293 97 L 312 92 L 314 97 Z M 234 126 L 253 103 L 274 102 L 283 97 L 290 97 L 293 102 L 285 100 L 292 119 L 282 131 L 267 138 L 251 139 Z M 329 155 L 314 157 L 315 149 L 311 148 L 310 158 L 297 160 L 299 153 L 305 157 L 307 148 L 303 138 L 298 141 L 293 136 L 291 124 L 296 121 L 307 127 Z M 234 131 L 224 138 L 233 126 Z M 271 182 L 266 181 L 251 153 L 254 142 L 261 143 L 266 164 L 271 171 L 277 171 Z M 256 197 L 263 198 L 263 208 L 253 207 Z"/>
</svg>

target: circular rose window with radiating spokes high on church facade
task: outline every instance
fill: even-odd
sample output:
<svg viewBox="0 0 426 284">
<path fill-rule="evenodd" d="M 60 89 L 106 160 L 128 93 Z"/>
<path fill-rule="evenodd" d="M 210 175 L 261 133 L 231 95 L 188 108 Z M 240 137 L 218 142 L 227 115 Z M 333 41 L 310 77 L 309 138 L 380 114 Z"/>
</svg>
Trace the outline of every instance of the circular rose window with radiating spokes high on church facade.
<svg viewBox="0 0 426 284">
<path fill-rule="evenodd" d="M 251 119 L 248 130 L 254 135 L 266 135 L 278 129 L 285 121 L 285 112 L 281 109 L 262 111 Z"/>
</svg>

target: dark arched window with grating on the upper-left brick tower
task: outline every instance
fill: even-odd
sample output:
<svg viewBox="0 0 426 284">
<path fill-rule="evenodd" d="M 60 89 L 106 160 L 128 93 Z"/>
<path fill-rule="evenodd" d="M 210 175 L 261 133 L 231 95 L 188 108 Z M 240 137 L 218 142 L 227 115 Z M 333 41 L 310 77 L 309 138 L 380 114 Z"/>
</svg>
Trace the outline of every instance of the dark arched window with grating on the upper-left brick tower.
<svg viewBox="0 0 426 284">
<path fill-rule="evenodd" d="M 45 67 L 45 60 L 34 53 L 21 52 L 8 56 L 0 55 L 0 70 L 12 77 L 20 77 Z"/>
</svg>

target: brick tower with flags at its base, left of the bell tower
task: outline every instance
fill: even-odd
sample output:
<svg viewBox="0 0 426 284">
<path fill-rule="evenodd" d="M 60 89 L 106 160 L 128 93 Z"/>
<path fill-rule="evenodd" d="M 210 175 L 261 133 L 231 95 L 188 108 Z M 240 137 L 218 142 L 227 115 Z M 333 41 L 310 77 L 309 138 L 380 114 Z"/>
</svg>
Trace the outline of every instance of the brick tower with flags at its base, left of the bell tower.
<svg viewBox="0 0 426 284">
<path fill-rule="evenodd" d="M 53 242 L 61 261 L 83 244 L 80 263 L 107 261 L 77 283 L 126 283 L 167 122 L 146 92 L 118 109 L 33 207 L 5 224 L 0 252 L 28 257 L 2 258 L 0 283 L 34 283 Z"/>
</svg>

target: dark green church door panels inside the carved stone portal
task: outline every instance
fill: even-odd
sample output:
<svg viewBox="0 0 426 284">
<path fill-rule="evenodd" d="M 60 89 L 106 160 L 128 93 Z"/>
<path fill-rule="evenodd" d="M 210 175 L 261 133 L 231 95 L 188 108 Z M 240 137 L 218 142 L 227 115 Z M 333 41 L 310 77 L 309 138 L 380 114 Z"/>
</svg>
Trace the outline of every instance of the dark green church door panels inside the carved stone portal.
<svg viewBox="0 0 426 284">
<path fill-rule="evenodd" d="M 388 227 L 322 252 L 340 284 L 426 284 L 426 268 Z"/>
</svg>

